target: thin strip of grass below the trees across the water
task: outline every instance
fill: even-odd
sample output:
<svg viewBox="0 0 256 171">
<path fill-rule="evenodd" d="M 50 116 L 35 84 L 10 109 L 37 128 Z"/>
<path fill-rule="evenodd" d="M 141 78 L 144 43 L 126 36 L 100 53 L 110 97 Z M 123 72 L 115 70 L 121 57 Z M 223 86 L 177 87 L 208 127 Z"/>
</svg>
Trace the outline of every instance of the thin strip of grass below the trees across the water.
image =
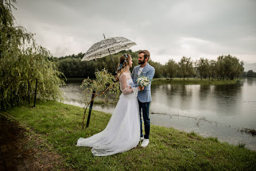
<svg viewBox="0 0 256 171">
<path fill-rule="evenodd" d="M 169 78 L 168 78 L 169 79 Z M 242 79 L 240 79 L 240 82 Z M 185 78 L 185 80 L 180 78 L 173 78 L 172 80 L 166 80 L 166 78 L 153 79 L 152 84 L 175 84 L 175 85 L 185 85 L 185 84 L 204 84 L 204 85 L 220 85 L 220 84 L 235 84 L 234 80 L 209 80 L 209 79 L 195 79 L 195 78 Z"/>
</svg>

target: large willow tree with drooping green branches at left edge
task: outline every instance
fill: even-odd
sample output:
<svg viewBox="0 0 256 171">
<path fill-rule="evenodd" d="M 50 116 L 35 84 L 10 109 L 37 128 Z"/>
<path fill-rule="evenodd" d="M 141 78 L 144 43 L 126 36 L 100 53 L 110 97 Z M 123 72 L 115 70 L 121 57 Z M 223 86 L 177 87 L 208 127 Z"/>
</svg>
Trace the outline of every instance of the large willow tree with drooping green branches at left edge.
<svg viewBox="0 0 256 171">
<path fill-rule="evenodd" d="M 0 0 L 0 104 L 5 110 L 29 100 L 36 94 L 42 100 L 61 99 L 61 72 L 57 71 L 51 53 L 37 45 L 33 34 L 15 26 L 11 9 L 15 1 Z"/>
</svg>

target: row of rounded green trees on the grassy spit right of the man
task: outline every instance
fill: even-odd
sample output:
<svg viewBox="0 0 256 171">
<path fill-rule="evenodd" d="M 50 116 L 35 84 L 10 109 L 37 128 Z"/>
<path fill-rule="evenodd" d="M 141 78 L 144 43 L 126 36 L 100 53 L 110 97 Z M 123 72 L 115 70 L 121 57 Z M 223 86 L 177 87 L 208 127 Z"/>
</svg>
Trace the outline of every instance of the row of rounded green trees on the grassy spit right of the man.
<svg viewBox="0 0 256 171">
<path fill-rule="evenodd" d="M 234 80 L 242 76 L 244 71 L 243 61 L 239 61 L 235 56 L 219 56 L 217 60 L 208 60 L 201 57 L 192 61 L 189 57 L 182 57 L 179 63 L 169 60 L 164 65 L 166 74 L 172 77 L 200 77 L 204 79 L 230 79 Z"/>
</svg>

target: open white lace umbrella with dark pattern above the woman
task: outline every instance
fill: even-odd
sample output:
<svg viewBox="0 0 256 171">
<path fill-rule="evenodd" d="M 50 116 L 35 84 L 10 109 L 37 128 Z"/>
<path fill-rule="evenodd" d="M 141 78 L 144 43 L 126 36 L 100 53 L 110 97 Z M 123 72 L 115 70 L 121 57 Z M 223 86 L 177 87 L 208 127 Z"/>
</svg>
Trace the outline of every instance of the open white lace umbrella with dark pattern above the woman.
<svg viewBox="0 0 256 171">
<path fill-rule="evenodd" d="M 122 50 L 129 49 L 133 45 L 136 45 L 135 42 L 130 41 L 125 37 L 105 38 L 104 40 L 96 42 L 94 45 L 92 45 L 91 48 L 87 50 L 86 54 L 84 54 L 82 61 L 90 61 L 90 60 L 102 58 L 108 55 L 110 55 L 111 57 L 111 55 L 118 53 Z M 111 61 L 115 69 L 115 65 L 113 63 L 112 57 L 111 57 Z M 116 69 L 115 69 L 115 72 L 117 73 Z"/>
</svg>

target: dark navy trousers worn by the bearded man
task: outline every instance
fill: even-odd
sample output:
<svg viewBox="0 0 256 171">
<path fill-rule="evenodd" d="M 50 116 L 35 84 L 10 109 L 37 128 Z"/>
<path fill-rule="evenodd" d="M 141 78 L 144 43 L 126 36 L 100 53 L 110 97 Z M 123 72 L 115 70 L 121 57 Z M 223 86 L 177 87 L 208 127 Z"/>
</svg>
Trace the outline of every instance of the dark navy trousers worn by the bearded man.
<svg viewBox="0 0 256 171">
<path fill-rule="evenodd" d="M 139 100 L 138 100 L 139 102 Z M 139 102 L 139 118 L 141 120 L 141 137 L 143 137 L 142 133 L 142 119 L 141 119 L 141 110 L 142 110 L 142 116 L 144 121 L 144 129 L 145 129 L 145 139 L 149 139 L 149 131 L 150 131 L 150 119 L 149 119 L 149 104 L 150 102 Z"/>
</svg>

